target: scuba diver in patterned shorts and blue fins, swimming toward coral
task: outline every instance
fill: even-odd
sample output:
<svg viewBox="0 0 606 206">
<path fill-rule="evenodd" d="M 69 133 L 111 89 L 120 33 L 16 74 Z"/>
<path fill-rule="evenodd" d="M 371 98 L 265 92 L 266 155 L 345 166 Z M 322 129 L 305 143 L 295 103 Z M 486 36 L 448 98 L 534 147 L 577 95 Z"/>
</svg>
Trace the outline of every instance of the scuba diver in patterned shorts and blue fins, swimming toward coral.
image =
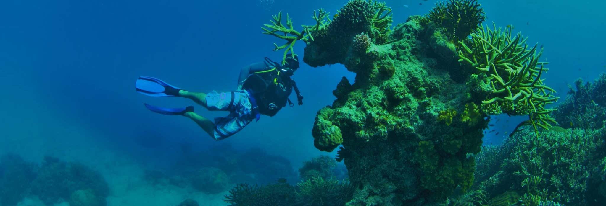
<svg viewBox="0 0 606 206">
<path fill-rule="evenodd" d="M 208 120 L 194 112 L 193 106 L 186 108 L 161 108 L 144 104 L 147 109 L 164 115 L 183 115 L 195 121 L 210 137 L 223 140 L 236 134 L 253 120 L 259 121 L 261 115 L 272 117 L 280 109 L 293 103 L 290 96 L 293 89 L 298 105 L 303 104 L 303 96 L 290 77 L 299 68 L 296 54 L 287 54 L 284 63 L 272 62 L 265 57 L 264 62 L 253 63 L 242 68 L 238 79 L 238 89 L 232 92 L 211 91 L 190 92 L 172 86 L 154 77 L 141 76 L 135 83 L 136 91 L 152 97 L 185 97 L 209 111 L 229 111 L 227 117 Z"/>
</svg>

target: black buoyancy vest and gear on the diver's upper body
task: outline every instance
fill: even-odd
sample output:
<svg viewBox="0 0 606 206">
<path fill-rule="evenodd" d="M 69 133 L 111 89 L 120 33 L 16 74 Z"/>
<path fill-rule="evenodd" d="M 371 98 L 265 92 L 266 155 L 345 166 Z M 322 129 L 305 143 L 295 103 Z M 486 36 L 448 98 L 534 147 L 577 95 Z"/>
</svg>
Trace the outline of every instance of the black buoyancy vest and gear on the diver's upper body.
<svg viewBox="0 0 606 206">
<path fill-rule="evenodd" d="M 293 107 L 294 104 L 288 96 L 295 89 L 298 105 L 303 105 L 303 96 L 299 92 L 299 88 L 295 80 L 290 79 L 293 75 L 293 70 L 288 67 L 282 67 L 277 62 L 272 62 L 265 57 L 265 64 L 268 65 L 263 71 L 258 71 L 245 80 L 242 88 L 252 92 L 255 97 L 256 105 L 259 106 L 259 112 L 264 115 L 273 116 L 280 109 L 288 105 Z"/>
</svg>

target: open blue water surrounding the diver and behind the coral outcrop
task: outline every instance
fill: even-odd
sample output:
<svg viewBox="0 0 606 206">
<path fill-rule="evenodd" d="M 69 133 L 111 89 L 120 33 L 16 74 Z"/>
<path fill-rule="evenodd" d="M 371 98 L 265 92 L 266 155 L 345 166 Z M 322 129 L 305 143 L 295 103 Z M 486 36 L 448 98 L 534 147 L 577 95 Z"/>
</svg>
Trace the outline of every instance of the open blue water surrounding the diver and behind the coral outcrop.
<svg viewBox="0 0 606 206">
<path fill-rule="evenodd" d="M 311 127 L 316 112 L 335 99 L 332 91 L 341 77 L 353 79 L 342 65 L 302 63 L 293 79 L 304 105 L 264 116 L 223 141 L 211 140 L 187 118 L 154 114 L 143 106 L 195 103 L 147 97 L 135 92 L 134 83 L 144 75 L 190 91 L 231 91 L 243 66 L 282 56 L 271 51 L 282 41 L 261 34 L 271 15 L 284 11 L 297 26 L 313 24 L 314 9 L 334 14 L 346 2 L 0 1 L 0 155 L 18 153 L 39 162 L 52 154 L 85 162 L 104 175 L 112 174 L 107 169 L 116 161 L 112 155 L 141 167 L 170 167 L 183 144 L 196 151 L 221 144 L 259 147 L 284 156 L 293 169 L 321 154 L 333 156 L 336 152 L 315 149 Z M 386 2 L 397 24 L 427 13 L 436 1 Z M 541 60 L 550 62 L 550 71 L 543 77 L 561 97 L 574 79 L 593 80 L 606 71 L 605 1 L 480 2 L 486 23 L 511 24 L 529 36 L 528 43 L 544 45 Z M 295 47 L 302 57 L 303 42 Z M 209 118 L 227 114 L 201 106 L 196 112 Z M 485 144 L 500 143 L 519 119 L 508 122 L 489 128 L 500 133 L 488 134 Z"/>
</svg>

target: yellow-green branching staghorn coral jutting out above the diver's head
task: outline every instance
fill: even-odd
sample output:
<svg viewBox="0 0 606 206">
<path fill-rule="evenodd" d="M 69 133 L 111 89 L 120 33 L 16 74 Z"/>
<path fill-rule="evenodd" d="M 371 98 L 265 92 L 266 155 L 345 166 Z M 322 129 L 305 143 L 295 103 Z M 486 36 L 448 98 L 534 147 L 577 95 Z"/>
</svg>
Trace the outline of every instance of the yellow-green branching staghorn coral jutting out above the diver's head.
<svg viewBox="0 0 606 206">
<path fill-rule="evenodd" d="M 286 25 L 282 24 L 282 11 L 279 11 L 277 15 L 273 15 L 271 17 L 273 18 L 273 20 L 271 21 L 271 25 L 264 24 L 264 26 L 267 28 L 261 27 L 261 29 L 265 31 L 263 32 L 263 34 L 270 34 L 272 36 L 287 41 L 286 43 L 284 43 L 284 45 L 281 46 L 278 46 L 276 43 L 273 44 L 276 47 L 273 49 L 273 51 L 286 49 L 284 51 L 284 56 L 282 56 L 283 64 L 285 63 L 286 55 L 288 54 L 288 52 L 291 52 L 292 55 L 295 56 L 293 46 L 295 45 L 297 40 L 303 40 L 305 43 L 307 43 L 308 40 L 313 40 L 313 36 L 311 36 L 311 31 L 322 29 L 328 25 L 325 21 L 325 19 L 328 19 L 328 13 L 322 8 L 320 8 L 317 13 L 316 11 L 313 11 L 312 18 L 316 20 L 316 24 L 311 26 L 302 25 L 303 30 L 301 32 L 295 30 L 295 28 L 293 27 L 293 19 L 288 16 L 288 13 L 286 14 Z M 330 21 L 330 19 L 328 19 L 328 21 Z"/>
</svg>

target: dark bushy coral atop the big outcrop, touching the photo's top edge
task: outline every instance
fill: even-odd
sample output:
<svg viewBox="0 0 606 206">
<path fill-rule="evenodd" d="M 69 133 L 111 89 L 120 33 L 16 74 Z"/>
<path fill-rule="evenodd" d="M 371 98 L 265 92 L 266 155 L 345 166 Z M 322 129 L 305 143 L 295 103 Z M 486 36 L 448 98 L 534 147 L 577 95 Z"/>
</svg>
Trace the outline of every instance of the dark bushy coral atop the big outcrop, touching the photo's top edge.
<svg viewBox="0 0 606 206">
<path fill-rule="evenodd" d="M 452 42 L 463 40 L 486 19 L 484 9 L 476 0 L 438 2 L 425 16 L 442 28 Z"/>
</svg>

